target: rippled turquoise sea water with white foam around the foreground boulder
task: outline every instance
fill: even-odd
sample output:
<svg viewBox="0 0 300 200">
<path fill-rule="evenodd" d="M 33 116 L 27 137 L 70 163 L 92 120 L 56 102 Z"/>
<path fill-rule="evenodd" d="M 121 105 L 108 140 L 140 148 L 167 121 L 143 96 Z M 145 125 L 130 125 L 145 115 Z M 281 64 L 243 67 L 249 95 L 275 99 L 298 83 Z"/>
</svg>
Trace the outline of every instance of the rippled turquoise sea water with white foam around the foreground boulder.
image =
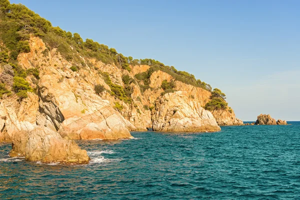
<svg viewBox="0 0 300 200">
<path fill-rule="evenodd" d="M 289 123 L 78 141 L 91 157 L 81 166 L 10 158 L 2 143 L 0 199 L 299 199 L 300 122 Z"/>
</svg>

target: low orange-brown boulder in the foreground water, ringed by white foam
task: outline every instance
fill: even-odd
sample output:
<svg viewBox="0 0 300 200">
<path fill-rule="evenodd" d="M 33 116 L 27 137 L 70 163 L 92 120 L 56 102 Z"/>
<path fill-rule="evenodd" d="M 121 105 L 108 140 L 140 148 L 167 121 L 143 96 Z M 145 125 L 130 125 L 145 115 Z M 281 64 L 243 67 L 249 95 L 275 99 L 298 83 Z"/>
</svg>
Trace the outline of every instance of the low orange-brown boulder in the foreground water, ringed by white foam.
<svg viewBox="0 0 300 200">
<path fill-rule="evenodd" d="M 45 127 L 14 132 L 11 156 L 25 156 L 26 159 L 66 164 L 86 164 L 89 157 L 72 141 L 63 139 L 57 132 Z"/>
</svg>

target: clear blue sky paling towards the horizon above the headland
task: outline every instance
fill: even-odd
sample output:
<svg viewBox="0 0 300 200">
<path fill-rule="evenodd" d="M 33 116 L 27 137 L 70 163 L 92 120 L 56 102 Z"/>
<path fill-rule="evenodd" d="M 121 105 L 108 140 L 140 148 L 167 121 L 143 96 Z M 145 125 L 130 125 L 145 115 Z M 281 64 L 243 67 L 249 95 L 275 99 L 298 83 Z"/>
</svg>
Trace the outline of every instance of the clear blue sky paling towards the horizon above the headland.
<svg viewBox="0 0 300 200">
<path fill-rule="evenodd" d="M 220 88 L 236 117 L 300 120 L 298 0 L 10 0 L 125 56 Z"/>
</svg>

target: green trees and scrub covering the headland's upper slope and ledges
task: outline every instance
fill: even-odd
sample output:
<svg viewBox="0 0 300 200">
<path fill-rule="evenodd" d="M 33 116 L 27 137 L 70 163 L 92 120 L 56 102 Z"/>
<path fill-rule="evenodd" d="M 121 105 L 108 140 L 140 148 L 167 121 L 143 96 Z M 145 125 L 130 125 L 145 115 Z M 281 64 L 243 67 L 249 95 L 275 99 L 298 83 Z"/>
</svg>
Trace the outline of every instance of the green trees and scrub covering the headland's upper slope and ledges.
<svg viewBox="0 0 300 200">
<path fill-rule="evenodd" d="M 55 48 L 62 57 L 70 62 L 72 65 L 70 69 L 72 71 L 78 71 L 81 67 L 84 68 L 86 65 L 98 70 L 88 58 L 94 58 L 96 61 L 101 61 L 104 64 L 112 64 L 122 69 L 122 81 L 124 86 L 113 83 L 110 79 L 110 74 L 107 72 L 99 72 L 102 74 L 106 84 L 110 87 L 110 94 L 125 103 L 132 102 L 131 93 L 133 87 L 131 83 L 137 84 L 141 92 L 146 89 L 152 90 L 149 86 L 150 76 L 154 71 L 161 70 L 173 77 L 169 82 L 166 80 L 162 81 L 161 88 L 164 91 L 161 95 L 174 92 L 174 81 L 181 81 L 211 92 L 210 101 L 205 105 L 206 109 L 227 108 L 227 103 L 224 100 L 225 94 L 217 88 L 212 91 L 209 84 L 196 79 L 193 74 L 177 70 L 174 66 L 165 65 L 155 59 L 134 59 L 132 56 L 126 57 L 117 52 L 116 49 L 100 44 L 89 38 L 86 38 L 84 41 L 79 33 L 71 33 L 62 30 L 58 26 L 53 27 L 48 20 L 40 17 L 22 4 L 10 4 L 9 0 L 0 0 L 0 7 L 0 64 L 4 69 L 5 64 L 12 67 L 11 69 L 6 67 L 7 70 L 4 70 L 0 74 L 0 81 L 5 83 L 6 87 L 12 87 L 13 91 L 21 98 L 26 97 L 28 91 L 32 91 L 29 83 L 24 78 L 28 75 L 34 76 L 34 78 L 31 77 L 34 84 L 37 84 L 37 80 L 39 79 L 38 67 L 25 70 L 19 66 L 17 62 L 19 53 L 30 51 L 28 41 L 30 36 L 35 35 L 40 37 L 46 44 L 47 48 L 42 51 L 45 58 L 49 59 L 49 52 Z M 84 59 L 82 57 L 84 57 Z M 128 73 L 126 71 L 131 71 L 130 65 L 149 65 L 150 67 L 145 72 L 135 74 L 134 78 L 132 78 L 126 74 Z M 5 86 L 3 88 L 5 88 Z M 95 93 L 100 94 L 105 88 L 103 85 L 98 84 L 94 85 L 94 90 Z M 3 89 L 3 91 L 6 90 Z M 194 98 L 194 96 L 192 96 L 192 98 Z M 151 107 L 147 108 L 152 109 Z M 229 109 L 229 111 L 232 112 L 232 109 Z"/>
</svg>

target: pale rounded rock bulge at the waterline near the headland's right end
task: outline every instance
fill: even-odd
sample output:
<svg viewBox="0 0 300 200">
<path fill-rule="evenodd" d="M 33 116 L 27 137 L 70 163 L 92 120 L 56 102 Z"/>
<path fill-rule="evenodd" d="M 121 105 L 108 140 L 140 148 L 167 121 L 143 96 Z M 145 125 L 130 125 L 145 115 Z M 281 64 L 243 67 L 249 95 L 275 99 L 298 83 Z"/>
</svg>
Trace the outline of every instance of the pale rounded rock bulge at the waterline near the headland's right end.
<svg viewBox="0 0 300 200">
<path fill-rule="evenodd" d="M 185 92 L 166 93 L 155 102 L 152 127 L 156 131 L 219 131 L 212 114 L 192 101 Z"/>
</svg>

